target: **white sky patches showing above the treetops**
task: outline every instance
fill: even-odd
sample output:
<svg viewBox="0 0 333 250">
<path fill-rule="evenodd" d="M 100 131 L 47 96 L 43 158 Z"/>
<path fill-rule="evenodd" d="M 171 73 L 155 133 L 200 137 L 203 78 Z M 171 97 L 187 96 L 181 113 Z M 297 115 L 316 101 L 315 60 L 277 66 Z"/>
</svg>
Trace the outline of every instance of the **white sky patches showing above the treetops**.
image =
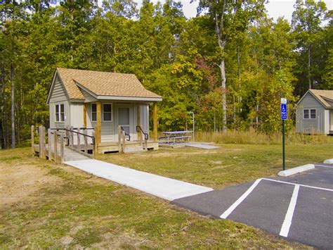
<svg viewBox="0 0 333 250">
<path fill-rule="evenodd" d="M 140 8 L 142 0 L 134 0 L 138 3 L 138 8 Z M 327 8 L 329 10 L 333 9 L 333 0 L 324 0 Z M 156 3 L 157 0 L 152 0 Z M 163 2 L 163 0 L 162 0 Z M 190 4 L 190 0 L 181 0 L 183 4 L 183 12 L 187 18 L 192 18 L 197 15 L 197 1 Z M 289 22 L 292 20 L 292 12 L 294 11 L 294 4 L 296 0 L 269 0 L 269 3 L 266 4 L 266 9 L 268 16 L 278 19 L 280 16 L 284 16 Z"/>
</svg>

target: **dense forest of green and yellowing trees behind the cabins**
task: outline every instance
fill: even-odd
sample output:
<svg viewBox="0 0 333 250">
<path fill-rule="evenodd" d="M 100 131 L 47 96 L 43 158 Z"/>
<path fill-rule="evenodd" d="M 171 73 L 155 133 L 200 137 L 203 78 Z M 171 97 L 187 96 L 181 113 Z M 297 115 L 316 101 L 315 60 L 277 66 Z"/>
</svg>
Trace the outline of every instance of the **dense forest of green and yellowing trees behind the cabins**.
<svg viewBox="0 0 333 250">
<path fill-rule="evenodd" d="M 159 130 L 281 127 L 280 99 L 333 89 L 333 20 L 325 3 L 295 0 L 292 22 L 268 18 L 265 0 L 1 1 L 0 148 L 48 127 L 55 68 L 133 73 L 163 97 Z"/>
</svg>

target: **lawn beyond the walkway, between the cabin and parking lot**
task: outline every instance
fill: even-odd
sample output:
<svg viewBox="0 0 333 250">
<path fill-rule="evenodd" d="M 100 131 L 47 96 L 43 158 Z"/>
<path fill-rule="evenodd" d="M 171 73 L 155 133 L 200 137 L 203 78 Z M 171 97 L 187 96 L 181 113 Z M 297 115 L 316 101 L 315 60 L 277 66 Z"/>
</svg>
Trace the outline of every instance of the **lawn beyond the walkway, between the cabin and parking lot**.
<svg viewBox="0 0 333 250">
<path fill-rule="evenodd" d="M 332 138 L 333 139 L 333 138 Z M 282 170 L 280 145 L 220 144 L 219 149 L 159 149 L 144 154 L 104 154 L 100 160 L 221 189 Z M 333 158 L 330 144 L 287 145 L 286 168 Z"/>
</svg>

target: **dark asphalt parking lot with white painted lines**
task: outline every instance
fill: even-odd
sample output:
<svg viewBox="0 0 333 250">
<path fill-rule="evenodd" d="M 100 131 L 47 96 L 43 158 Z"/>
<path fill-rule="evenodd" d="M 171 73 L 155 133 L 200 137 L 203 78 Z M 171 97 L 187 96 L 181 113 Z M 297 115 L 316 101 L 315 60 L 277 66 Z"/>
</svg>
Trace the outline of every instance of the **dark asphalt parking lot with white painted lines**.
<svg viewBox="0 0 333 250">
<path fill-rule="evenodd" d="M 173 201 L 318 247 L 333 248 L 333 165 L 290 177 L 267 177 Z"/>
</svg>

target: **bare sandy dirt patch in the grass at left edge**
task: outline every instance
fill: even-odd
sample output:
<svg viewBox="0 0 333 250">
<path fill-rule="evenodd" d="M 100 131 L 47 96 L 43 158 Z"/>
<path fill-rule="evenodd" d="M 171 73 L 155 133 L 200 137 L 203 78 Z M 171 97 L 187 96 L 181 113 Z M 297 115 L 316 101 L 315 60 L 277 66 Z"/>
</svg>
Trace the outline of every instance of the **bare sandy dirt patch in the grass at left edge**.
<svg viewBox="0 0 333 250">
<path fill-rule="evenodd" d="M 0 211 L 25 201 L 34 201 L 39 189 L 59 185 L 62 180 L 34 165 L 0 163 Z"/>
</svg>

